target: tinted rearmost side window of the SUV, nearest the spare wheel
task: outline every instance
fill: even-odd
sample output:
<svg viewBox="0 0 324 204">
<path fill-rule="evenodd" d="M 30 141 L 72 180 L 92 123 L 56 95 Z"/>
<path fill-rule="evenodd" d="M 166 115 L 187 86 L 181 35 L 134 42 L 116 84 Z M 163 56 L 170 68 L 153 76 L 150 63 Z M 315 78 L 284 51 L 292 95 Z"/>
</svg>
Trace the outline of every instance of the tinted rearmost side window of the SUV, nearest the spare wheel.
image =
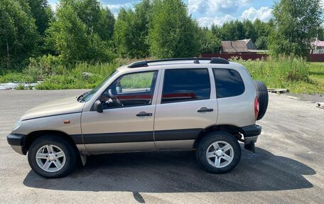
<svg viewBox="0 0 324 204">
<path fill-rule="evenodd" d="M 245 87 L 241 75 L 236 70 L 213 69 L 217 98 L 242 95 Z"/>
</svg>

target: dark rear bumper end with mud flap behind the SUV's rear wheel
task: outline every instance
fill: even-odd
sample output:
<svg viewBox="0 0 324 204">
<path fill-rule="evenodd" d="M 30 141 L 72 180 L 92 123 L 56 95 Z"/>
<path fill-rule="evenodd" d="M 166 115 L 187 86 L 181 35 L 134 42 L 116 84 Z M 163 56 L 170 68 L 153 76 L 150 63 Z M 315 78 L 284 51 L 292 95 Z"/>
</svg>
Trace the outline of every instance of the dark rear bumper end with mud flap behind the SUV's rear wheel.
<svg viewBox="0 0 324 204">
<path fill-rule="evenodd" d="M 244 148 L 255 153 L 254 143 L 257 142 L 258 136 L 261 134 L 261 126 L 254 124 L 241 129 L 244 135 Z"/>
</svg>

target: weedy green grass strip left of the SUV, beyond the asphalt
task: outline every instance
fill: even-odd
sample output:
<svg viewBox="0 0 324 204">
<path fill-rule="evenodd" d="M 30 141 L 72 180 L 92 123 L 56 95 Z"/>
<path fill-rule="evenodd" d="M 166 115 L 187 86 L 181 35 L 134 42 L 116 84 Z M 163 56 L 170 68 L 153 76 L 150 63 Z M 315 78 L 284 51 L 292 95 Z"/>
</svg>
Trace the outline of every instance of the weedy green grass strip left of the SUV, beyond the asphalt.
<svg viewBox="0 0 324 204">
<path fill-rule="evenodd" d="M 77 63 L 74 68 L 45 60 L 31 60 L 28 68 L 20 73 L 1 73 L 0 82 L 43 82 L 36 86 L 38 90 L 91 89 L 113 73 L 120 65 L 131 60 L 118 59 L 112 63 Z M 89 74 L 85 74 L 89 73 Z"/>
</svg>

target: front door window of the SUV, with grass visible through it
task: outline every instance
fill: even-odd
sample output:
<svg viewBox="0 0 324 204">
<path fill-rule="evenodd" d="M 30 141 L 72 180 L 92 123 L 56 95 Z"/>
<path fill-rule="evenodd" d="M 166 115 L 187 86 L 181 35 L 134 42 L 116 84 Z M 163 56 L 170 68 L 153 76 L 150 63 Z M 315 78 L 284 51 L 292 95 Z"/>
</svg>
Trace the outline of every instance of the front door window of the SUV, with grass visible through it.
<svg viewBox="0 0 324 204">
<path fill-rule="evenodd" d="M 103 109 L 151 104 L 158 72 L 131 73 L 115 80 L 100 96 Z"/>
</svg>

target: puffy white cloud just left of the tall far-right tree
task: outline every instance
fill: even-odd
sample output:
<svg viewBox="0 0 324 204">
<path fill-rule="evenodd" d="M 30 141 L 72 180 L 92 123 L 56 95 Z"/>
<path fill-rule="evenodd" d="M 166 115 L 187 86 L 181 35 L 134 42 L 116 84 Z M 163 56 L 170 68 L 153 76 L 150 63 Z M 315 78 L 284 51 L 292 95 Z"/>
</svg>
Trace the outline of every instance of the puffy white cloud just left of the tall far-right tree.
<svg viewBox="0 0 324 204">
<path fill-rule="evenodd" d="M 254 7 L 251 7 L 243 11 L 241 18 L 249 19 L 251 21 L 255 21 L 257 18 L 259 18 L 261 21 L 269 21 L 270 18 L 273 17 L 272 11 L 273 9 L 270 9 L 268 7 L 261 7 L 259 10 L 254 9 Z"/>
</svg>

